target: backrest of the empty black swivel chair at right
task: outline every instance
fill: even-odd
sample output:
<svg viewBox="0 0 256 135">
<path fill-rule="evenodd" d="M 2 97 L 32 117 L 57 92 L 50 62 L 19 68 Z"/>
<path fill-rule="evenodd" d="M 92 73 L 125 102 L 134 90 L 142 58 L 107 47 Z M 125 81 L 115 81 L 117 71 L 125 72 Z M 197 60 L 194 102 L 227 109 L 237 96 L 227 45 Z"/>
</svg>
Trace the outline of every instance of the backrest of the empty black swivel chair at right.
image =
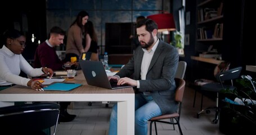
<svg viewBox="0 0 256 135">
<path fill-rule="evenodd" d="M 239 66 L 237 68 L 223 71 L 223 72 L 217 74 L 215 77 L 219 82 L 222 82 L 225 80 L 237 79 L 240 77 L 241 70 L 242 70 L 242 67 Z"/>
</svg>

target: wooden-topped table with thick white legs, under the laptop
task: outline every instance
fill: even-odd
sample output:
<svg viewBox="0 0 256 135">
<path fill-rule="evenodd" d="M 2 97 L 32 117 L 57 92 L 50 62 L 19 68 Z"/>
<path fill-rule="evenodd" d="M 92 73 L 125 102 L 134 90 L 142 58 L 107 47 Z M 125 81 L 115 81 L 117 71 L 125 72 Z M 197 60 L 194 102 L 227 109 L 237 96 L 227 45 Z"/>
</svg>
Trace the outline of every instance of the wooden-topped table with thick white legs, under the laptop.
<svg viewBox="0 0 256 135">
<path fill-rule="evenodd" d="M 106 89 L 89 86 L 82 71 L 70 83 L 83 84 L 69 92 L 33 91 L 29 87 L 14 86 L 0 91 L 0 101 L 117 101 L 118 134 L 134 134 L 134 92 L 132 88 Z"/>
</svg>

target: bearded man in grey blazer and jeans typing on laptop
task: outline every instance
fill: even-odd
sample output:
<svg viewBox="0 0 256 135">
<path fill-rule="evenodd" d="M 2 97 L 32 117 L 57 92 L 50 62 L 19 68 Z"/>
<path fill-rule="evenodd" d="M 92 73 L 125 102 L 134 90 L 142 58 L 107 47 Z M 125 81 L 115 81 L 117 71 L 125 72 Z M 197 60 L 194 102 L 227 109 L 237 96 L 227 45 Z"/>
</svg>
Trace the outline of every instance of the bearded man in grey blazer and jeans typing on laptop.
<svg viewBox="0 0 256 135">
<path fill-rule="evenodd" d="M 179 55 L 173 46 L 157 37 L 158 25 L 151 19 L 137 22 L 137 35 L 141 46 L 134 51 L 129 62 L 114 76 L 118 85 L 129 84 L 135 89 L 135 134 L 147 135 L 147 121 L 155 116 L 174 113 L 174 81 Z M 129 78 L 133 74 L 133 79 Z M 117 107 L 110 116 L 109 134 L 117 134 Z"/>
</svg>

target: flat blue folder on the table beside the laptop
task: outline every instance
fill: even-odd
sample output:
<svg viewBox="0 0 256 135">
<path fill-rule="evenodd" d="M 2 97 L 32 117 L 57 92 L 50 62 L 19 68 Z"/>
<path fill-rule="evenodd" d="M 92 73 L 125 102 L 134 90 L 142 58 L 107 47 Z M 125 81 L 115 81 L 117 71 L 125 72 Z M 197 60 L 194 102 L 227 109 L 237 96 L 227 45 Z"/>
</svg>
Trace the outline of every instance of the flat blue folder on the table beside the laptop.
<svg viewBox="0 0 256 135">
<path fill-rule="evenodd" d="M 54 83 L 48 87 L 44 87 L 44 91 L 70 91 L 74 88 L 80 87 L 82 84 L 78 83 Z"/>
</svg>

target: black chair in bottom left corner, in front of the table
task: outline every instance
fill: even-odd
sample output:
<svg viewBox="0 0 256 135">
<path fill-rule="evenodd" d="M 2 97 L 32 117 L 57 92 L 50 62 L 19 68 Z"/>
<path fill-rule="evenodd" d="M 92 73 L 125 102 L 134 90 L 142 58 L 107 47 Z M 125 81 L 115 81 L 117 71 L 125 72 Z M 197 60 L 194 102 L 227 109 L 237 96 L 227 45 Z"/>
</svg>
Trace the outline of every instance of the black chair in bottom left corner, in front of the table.
<svg viewBox="0 0 256 135">
<path fill-rule="evenodd" d="M 55 125 L 56 132 L 60 105 L 35 103 L 0 107 L 0 131 L 6 134 L 46 134 L 43 130 Z"/>
</svg>

